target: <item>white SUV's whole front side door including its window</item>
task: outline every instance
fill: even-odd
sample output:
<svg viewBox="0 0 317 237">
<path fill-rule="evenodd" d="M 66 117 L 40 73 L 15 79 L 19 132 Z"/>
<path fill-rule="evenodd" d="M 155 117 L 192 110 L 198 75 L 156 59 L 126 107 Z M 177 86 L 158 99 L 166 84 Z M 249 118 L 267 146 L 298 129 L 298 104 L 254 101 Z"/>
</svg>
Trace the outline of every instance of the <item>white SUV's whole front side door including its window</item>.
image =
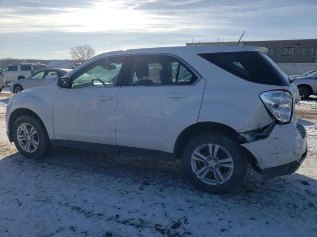
<svg viewBox="0 0 317 237">
<path fill-rule="evenodd" d="M 57 143 L 116 145 L 115 106 L 123 57 L 92 62 L 70 76 L 71 88 L 59 88 L 53 105 Z"/>
</svg>

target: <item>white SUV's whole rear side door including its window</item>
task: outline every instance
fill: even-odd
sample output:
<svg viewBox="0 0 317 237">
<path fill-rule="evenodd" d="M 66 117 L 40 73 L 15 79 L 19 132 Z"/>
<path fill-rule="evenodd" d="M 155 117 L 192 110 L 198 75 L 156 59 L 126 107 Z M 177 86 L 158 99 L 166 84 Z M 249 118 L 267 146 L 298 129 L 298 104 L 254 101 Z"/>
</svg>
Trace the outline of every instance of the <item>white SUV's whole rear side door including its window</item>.
<svg viewBox="0 0 317 237">
<path fill-rule="evenodd" d="M 177 136 L 197 122 L 205 80 L 180 59 L 134 56 L 116 106 L 119 146 L 173 152 Z"/>
</svg>

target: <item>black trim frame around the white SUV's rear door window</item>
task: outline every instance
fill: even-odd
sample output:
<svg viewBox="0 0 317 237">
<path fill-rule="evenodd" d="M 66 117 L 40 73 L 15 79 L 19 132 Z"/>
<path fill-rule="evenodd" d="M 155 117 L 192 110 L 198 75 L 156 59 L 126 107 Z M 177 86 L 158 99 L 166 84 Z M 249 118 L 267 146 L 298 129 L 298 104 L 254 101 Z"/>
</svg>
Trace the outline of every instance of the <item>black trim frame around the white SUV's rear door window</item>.
<svg viewBox="0 0 317 237">
<path fill-rule="evenodd" d="M 130 80 L 133 78 L 133 67 L 134 63 L 135 63 L 135 57 L 136 56 L 170 56 L 175 58 L 178 61 L 178 67 L 180 67 L 181 65 L 183 65 L 183 67 L 185 69 L 187 69 L 190 73 L 193 74 L 193 77 L 196 78 L 196 80 L 191 83 L 191 84 L 184 84 L 184 85 L 179 85 L 179 84 L 175 84 L 175 85 L 129 85 Z M 129 73 L 129 78 L 127 80 L 125 80 L 125 82 L 123 83 L 122 86 L 128 86 L 128 87 L 164 87 L 164 86 L 195 86 L 196 84 L 199 83 L 199 81 L 202 79 L 202 76 L 192 67 L 190 66 L 186 61 L 184 61 L 182 58 L 180 58 L 179 56 L 175 55 L 175 54 L 170 54 L 170 53 L 138 53 L 138 54 L 133 54 L 131 55 L 131 62 L 130 62 L 130 73 Z M 178 75 L 177 75 L 178 76 Z"/>
</svg>

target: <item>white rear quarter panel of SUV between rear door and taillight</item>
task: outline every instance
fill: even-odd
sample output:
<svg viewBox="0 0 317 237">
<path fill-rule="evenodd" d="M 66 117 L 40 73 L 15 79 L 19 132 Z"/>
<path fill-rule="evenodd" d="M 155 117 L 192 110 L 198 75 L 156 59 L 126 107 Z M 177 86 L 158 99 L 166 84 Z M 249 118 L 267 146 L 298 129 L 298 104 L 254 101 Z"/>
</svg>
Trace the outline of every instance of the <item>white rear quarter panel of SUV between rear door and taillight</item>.
<svg viewBox="0 0 317 237">
<path fill-rule="evenodd" d="M 216 66 L 212 72 L 205 78 L 199 122 L 218 122 L 240 133 L 262 128 L 273 121 L 260 99 L 260 93 L 283 89 L 281 86 L 253 83 Z"/>
</svg>

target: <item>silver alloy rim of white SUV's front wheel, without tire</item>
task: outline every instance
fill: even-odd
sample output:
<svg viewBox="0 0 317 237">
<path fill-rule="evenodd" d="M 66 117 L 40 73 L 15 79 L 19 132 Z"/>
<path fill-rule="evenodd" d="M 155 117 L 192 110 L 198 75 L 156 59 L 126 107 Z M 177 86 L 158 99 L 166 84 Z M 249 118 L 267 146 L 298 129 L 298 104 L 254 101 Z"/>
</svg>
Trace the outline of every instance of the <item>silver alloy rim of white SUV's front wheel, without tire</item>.
<svg viewBox="0 0 317 237">
<path fill-rule="evenodd" d="M 39 135 L 29 123 L 21 123 L 16 131 L 16 138 L 20 147 L 29 153 L 35 152 L 39 146 Z"/>
</svg>

